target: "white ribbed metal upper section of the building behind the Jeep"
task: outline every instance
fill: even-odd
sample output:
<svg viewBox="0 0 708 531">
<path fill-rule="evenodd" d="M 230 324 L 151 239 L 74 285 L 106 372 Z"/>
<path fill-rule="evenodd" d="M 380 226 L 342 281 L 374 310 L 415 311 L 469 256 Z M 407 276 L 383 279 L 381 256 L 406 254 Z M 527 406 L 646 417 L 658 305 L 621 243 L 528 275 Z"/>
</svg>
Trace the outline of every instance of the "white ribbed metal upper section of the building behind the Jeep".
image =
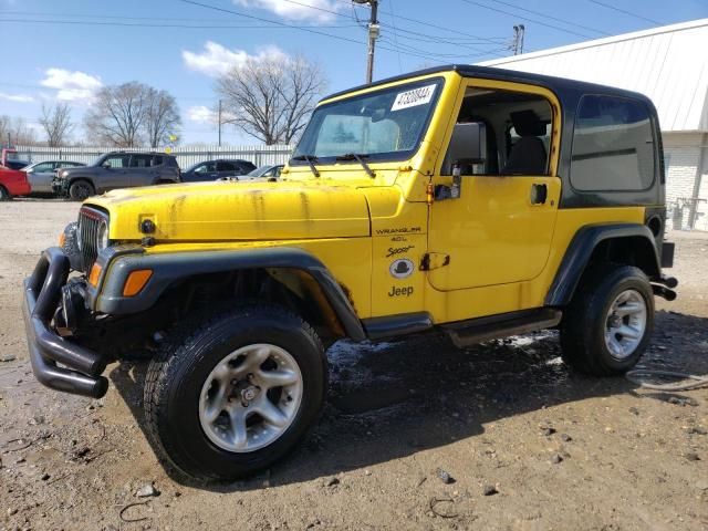
<svg viewBox="0 0 708 531">
<path fill-rule="evenodd" d="M 662 131 L 708 132 L 708 19 L 480 63 L 646 94 Z"/>
</svg>

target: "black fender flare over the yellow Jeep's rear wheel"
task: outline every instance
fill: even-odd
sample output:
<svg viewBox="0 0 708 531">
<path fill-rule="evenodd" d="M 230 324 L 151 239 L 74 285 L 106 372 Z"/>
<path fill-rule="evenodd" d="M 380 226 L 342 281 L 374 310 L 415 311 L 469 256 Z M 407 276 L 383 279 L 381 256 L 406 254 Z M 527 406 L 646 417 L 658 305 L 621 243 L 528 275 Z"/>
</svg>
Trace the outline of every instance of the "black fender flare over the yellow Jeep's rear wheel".
<svg viewBox="0 0 708 531">
<path fill-rule="evenodd" d="M 615 239 L 641 239 L 645 248 L 650 248 L 648 263 L 643 268 L 650 279 L 662 274 L 656 240 L 648 227 L 639 223 L 603 223 L 581 228 L 565 250 L 553 283 L 545 295 L 546 306 L 564 306 L 570 303 L 585 272 L 590 259 L 600 243 Z"/>
</svg>

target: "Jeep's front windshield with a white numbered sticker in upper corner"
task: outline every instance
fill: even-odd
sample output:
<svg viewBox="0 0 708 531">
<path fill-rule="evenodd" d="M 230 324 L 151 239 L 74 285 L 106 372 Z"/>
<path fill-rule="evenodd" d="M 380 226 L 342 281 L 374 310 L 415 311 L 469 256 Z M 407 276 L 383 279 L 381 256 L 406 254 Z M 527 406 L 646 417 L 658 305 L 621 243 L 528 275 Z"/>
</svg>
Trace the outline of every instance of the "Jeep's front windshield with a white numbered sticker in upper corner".
<svg viewBox="0 0 708 531">
<path fill-rule="evenodd" d="M 368 160 L 409 158 L 425 134 L 441 84 L 440 79 L 425 80 L 317 107 L 293 152 L 294 164 L 308 164 L 305 155 L 319 162 L 347 154 Z"/>
</svg>

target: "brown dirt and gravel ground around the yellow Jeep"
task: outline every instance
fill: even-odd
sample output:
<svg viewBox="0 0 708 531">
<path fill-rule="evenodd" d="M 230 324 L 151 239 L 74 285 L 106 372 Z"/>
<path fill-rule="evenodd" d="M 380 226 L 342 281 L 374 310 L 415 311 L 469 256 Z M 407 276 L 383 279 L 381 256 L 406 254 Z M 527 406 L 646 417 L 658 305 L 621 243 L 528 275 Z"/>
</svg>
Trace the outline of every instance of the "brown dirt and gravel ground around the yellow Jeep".
<svg viewBox="0 0 708 531">
<path fill-rule="evenodd" d="M 336 344 L 329 404 L 291 458 L 176 482 L 140 429 L 144 363 L 111 365 L 101 400 L 32 376 L 21 281 L 76 208 L 0 204 L 0 360 L 15 356 L 0 361 L 0 529 L 708 529 L 708 388 L 584 377 L 552 332 Z M 642 366 L 707 374 L 708 237 L 670 238 L 679 299 L 657 300 Z M 136 497 L 146 485 L 159 496 Z"/>
</svg>

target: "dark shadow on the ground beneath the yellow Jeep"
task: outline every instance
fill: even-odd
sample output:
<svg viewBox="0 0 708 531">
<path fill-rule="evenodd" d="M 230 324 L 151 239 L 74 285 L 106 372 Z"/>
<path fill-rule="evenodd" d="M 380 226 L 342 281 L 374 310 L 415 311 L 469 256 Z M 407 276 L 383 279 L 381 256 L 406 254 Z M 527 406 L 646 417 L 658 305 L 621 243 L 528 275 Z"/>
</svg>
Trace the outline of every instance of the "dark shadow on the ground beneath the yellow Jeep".
<svg viewBox="0 0 708 531">
<path fill-rule="evenodd" d="M 708 319 L 660 311 L 639 366 L 706 374 L 707 354 Z M 593 378 L 571 371 L 560 358 L 553 331 L 465 351 L 438 333 L 392 343 L 340 342 L 329 355 L 327 405 L 309 440 L 288 459 L 264 475 L 228 485 L 194 483 L 166 467 L 170 477 L 216 492 L 298 483 L 477 437 L 500 418 L 637 389 L 623 377 Z M 110 375 L 143 429 L 146 368 L 144 362 L 124 362 Z M 685 395 L 642 396 L 666 400 Z"/>
</svg>

